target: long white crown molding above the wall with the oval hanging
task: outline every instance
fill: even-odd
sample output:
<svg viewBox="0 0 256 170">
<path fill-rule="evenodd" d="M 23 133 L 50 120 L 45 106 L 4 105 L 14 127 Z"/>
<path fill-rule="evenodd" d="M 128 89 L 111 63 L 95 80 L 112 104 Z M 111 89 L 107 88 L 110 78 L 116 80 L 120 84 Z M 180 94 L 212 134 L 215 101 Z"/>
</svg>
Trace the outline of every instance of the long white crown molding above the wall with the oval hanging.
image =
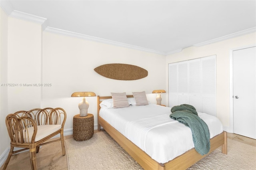
<svg viewBox="0 0 256 170">
<path fill-rule="evenodd" d="M 103 38 L 87 36 L 87 35 L 79 34 L 79 33 L 76 33 L 76 32 L 61 30 L 61 29 L 58 29 L 58 28 L 47 27 L 44 31 L 54 33 L 54 34 L 63 35 L 63 36 L 72 36 L 72 37 L 81 38 L 81 39 L 85 39 L 85 40 L 107 43 L 107 44 L 111 44 L 111 45 L 118 45 L 118 46 L 121 46 L 121 47 L 127 47 L 127 48 L 132 48 L 132 49 L 138 49 L 138 50 L 141 50 L 141 51 L 147 51 L 147 52 L 151 52 L 151 53 L 166 55 L 166 53 L 161 52 L 161 51 L 156 51 L 156 50 L 152 50 L 152 49 L 148 49 L 148 48 L 138 47 L 138 46 L 130 45 L 130 44 L 126 44 L 126 43 L 120 43 L 120 42 L 115 42 L 115 41 L 111 41 L 111 40 L 106 40 L 106 39 L 103 39 Z"/>
</svg>

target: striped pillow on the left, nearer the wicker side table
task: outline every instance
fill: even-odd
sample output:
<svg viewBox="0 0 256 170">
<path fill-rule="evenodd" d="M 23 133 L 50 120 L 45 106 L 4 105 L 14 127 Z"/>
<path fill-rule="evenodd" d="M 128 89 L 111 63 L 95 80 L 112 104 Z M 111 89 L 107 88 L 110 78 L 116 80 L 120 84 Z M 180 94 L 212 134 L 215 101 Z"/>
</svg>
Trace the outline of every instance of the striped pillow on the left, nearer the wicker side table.
<svg viewBox="0 0 256 170">
<path fill-rule="evenodd" d="M 111 93 L 113 99 L 113 108 L 129 107 L 126 93 Z"/>
</svg>

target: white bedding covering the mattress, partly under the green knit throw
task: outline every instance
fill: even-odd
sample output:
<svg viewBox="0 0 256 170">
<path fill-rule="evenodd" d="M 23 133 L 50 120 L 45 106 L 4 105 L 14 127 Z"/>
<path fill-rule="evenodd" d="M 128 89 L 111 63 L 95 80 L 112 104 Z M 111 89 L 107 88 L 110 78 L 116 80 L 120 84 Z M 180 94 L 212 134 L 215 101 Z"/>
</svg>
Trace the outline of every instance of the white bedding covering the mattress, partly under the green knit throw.
<svg viewBox="0 0 256 170">
<path fill-rule="evenodd" d="M 169 117 L 170 107 L 149 104 L 124 108 L 101 108 L 100 117 L 126 136 L 152 159 L 166 163 L 194 148 L 192 132 Z M 223 132 L 218 118 L 198 113 L 208 125 L 210 138 Z"/>
</svg>

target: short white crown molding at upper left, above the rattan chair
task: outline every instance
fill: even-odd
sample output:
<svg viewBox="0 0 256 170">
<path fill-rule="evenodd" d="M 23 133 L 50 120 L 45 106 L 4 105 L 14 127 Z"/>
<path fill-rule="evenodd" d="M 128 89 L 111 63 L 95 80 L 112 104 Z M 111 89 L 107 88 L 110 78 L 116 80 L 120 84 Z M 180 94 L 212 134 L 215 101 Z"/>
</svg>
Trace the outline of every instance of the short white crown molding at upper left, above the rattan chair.
<svg viewBox="0 0 256 170">
<path fill-rule="evenodd" d="M 43 18 L 43 17 L 40 17 L 40 16 L 35 16 L 35 15 L 28 14 L 28 13 L 25 13 L 25 12 L 20 12 L 20 11 L 17 11 L 17 10 L 13 10 L 12 13 L 9 16 L 13 17 L 13 18 L 18 18 L 18 19 L 30 21 L 30 22 L 35 22 L 35 23 L 38 23 L 38 24 L 44 24 L 44 22 L 47 20 L 47 18 Z"/>
</svg>

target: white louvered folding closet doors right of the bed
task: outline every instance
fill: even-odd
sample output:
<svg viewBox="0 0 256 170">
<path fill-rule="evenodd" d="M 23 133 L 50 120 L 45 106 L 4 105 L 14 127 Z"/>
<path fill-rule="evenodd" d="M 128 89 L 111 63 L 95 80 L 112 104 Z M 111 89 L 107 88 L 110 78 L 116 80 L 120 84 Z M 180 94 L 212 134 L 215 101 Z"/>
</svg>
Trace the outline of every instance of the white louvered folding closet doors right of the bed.
<svg viewBox="0 0 256 170">
<path fill-rule="evenodd" d="M 169 107 L 181 104 L 216 116 L 216 55 L 169 64 Z"/>
</svg>

